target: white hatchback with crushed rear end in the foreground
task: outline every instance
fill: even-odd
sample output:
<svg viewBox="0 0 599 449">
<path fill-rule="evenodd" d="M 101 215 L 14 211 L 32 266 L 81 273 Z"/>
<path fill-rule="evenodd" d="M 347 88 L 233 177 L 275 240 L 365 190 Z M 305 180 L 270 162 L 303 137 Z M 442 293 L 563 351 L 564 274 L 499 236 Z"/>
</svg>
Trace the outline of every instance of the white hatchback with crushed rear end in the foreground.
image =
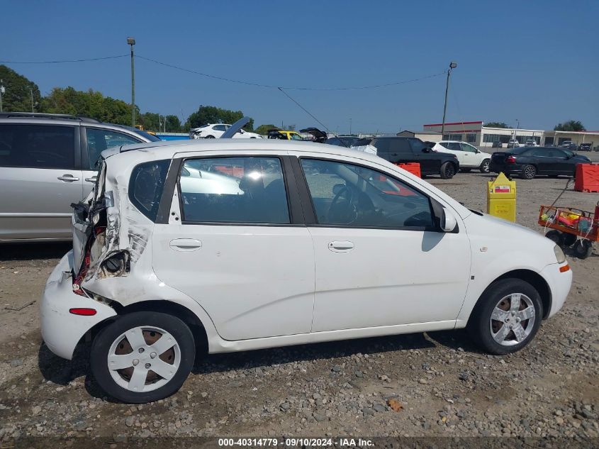
<svg viewBox="0 0 599 449">
<path fill-rule="evenodd" d="M 208 353 L 468 328 L 513 353 L 572 274 L 551 240 L 470 211 L 368 153 L 284 140 L 102 153 L 47 281 L 42 334 L 121 401 L 181 387 Z"/>
</svg>

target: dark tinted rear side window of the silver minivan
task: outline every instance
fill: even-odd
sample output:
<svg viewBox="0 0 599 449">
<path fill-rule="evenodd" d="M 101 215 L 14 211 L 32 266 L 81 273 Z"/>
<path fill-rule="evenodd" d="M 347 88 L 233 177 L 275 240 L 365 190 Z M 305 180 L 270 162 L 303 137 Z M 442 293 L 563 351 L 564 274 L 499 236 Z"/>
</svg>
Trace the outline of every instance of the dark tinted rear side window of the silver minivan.
<svg viewBox="0 0 599 449">
<path fill-rule="evenodd" d="M 0 167 L 73 170 L 74 157 L 74 126 L 0 125 Z"/>
</svg>

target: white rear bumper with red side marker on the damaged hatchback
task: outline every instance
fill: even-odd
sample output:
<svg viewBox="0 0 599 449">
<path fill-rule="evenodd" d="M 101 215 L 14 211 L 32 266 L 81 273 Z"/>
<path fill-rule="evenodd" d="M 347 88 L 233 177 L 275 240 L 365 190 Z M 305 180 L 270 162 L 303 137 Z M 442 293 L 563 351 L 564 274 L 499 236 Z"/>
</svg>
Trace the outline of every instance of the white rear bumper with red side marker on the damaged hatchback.
<svg viewBox="0 0 599 449">
<path fill-rule="evenodd" d="M 71 360 L 79 340 L 87 331 L 116 311 L 94 299 L 79 296 L 72 289 L 73 252 L 65 254 L 46 282 L 40 305 L 42 338 L 48 348 L 59 357 Z M 69 313 L 74 307 L 96 310 L 94 316 Z"/>
</svg>

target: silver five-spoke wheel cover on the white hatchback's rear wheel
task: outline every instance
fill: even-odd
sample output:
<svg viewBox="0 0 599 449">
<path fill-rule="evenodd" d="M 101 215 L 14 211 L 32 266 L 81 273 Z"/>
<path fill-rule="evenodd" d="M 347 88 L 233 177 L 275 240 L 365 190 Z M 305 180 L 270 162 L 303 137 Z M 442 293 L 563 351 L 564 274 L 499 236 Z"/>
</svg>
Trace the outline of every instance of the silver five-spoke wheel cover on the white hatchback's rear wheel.
<svg viewBox="0 0 599 449">
<path fill-rule="evenodd" d="M 155 331 L 161 333 L 162 336 L 153 345 L 147 345 L 143 339 L 143 331 Z M 141 340 L 139 339 L 140 337 Z M 165 337 L 166 340 L 162 342 L 162 339 Z M 116 348 L 124 338 L 127 338 L 133 351 L 124 355 L 116 355 Z M 142 353 L 139 352 L 140 348 L 143 349 Z M 171 348 L 174 350 L 174 362 L 172 365 L 159 359 L 162 353 Z M 152 356 L 152 354 L 155 355 Z M 152 390 L 164 387 L 177 374 L 180 362 L 181 349 L 179 348 L 179 343 L 177 343 L 172 334 L 156 326 L 137 326 L 123 332 L 113 341 L 110 350 L 108 350 L 108 357 L 106 357 L 108 372 L 110 372 L 114 382 L 119 387 L 135 393 L 151 392 Z M 146 364 L 150 365 L 150 367 L 146 368 Z M 118 373 L 118 370 L 129 367 L 133 367 L 133 375 L 127 381 Z M 162 379 L 158 379 L 151 384 L 145 384 L 149 371 L 156 372 Z M 136 382 L 133 382 L 134 376 Z M 140 382 L 141 380 L 143 383 Z M 142 385 L 141 389 L 137 386 L 139 384 Z"/>
</svg>

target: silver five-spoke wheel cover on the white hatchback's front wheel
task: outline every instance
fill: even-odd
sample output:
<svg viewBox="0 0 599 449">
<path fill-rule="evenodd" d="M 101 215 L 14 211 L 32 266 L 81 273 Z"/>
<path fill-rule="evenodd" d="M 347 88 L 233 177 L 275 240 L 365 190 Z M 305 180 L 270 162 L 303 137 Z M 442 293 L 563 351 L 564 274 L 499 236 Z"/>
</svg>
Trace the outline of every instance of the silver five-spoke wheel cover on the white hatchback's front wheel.
<svg viewBox="0 0 599 449">
<path fill-rule="evenodd" d="M 506 300 L 510 301 L 510 310 L 508 311 L 498 307 Z M 525 305 L 524 309 L 520 309 L 522 303 Z M 489 319 L 491 337 L 502 346 L 518 345 L 530 336 L 536 317 L 537 311 L 534 309 L 534 304 L 525 294 L 511 293 L 503 296 L 496 304 Z M 497 332 L 493 332 L 493 321 L 502 323 Z M 527 321 L 525 326 L 520 324 L 522 321 Z M 513 335 L 515 339 L 510 338 L 510 340 L 507 340 L 510 335 Z"/>
</svg>

